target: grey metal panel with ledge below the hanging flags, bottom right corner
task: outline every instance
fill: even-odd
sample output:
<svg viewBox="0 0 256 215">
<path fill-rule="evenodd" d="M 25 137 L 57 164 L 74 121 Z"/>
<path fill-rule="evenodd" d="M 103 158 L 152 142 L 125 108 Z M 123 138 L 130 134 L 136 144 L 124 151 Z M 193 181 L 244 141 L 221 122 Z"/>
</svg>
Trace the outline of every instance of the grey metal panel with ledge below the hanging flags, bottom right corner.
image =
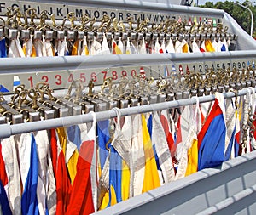
<svg viewBox="0 0 256 215">
<path fill-rule="evenodd" d="M 238 156 L 94 214 L 254 214 L 255 158 L 256 151 Z"/>
</svg>

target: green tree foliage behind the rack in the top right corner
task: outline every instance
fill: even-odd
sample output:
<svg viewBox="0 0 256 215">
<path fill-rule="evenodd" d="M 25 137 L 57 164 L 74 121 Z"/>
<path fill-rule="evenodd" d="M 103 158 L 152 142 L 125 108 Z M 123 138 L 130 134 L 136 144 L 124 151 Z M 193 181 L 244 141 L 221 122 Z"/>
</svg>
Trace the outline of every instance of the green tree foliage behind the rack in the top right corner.
<svg viewBox="0 0 256 215">
<path fill-rule="evenodd" d="M 253 6 L 253 3 L 251 1 L 245 0 L 244 3 L 242 3 L 243 6 L 246 6 L 247 8 L 250 8 L 253 12 L 253 37 L 256 36 L 256 6 Z M 236 22 L 241 25 L 241 27 L 247 31 L 248 34 L 251 33 L 251 14 L 250 12 L 242 8 L 241 6 L 235 4 L 231 1 L 225 1 L 225 2 L 218 2 L 218 3 L 212 3 L 207 2 L 205 5 L 201 5 L 201 8 L 217 8 L 217 9 L 223 9 L 225 12 L 230 14 Z"/>
</svg>

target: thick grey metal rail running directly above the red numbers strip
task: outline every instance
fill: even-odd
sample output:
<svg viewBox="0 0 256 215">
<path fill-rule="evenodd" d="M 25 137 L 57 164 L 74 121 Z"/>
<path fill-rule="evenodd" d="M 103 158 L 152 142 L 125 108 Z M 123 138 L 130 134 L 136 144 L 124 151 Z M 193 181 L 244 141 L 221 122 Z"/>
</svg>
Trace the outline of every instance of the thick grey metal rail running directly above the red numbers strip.
<svg viewBox="0 0 256 215">
<path fill-rule="evenodd" d="M 55 71 L 70 70 L 83 68 L 107 68 L 113 66 L 125 65 L 161 65 L 170 64 L 170 62 L 195 62 L 199 59 L 205 60 L 224 60 L 224 59 L 244 59 L 255 58 L 255 50 L 233 51 L 221 53 L 193 53 L 193 54 L 120 54 L 109 55 L 106 61 L 105 55 L 95 56 L 67 56 L 67 57 L 45 57 L 45 58 L 23 58 L 17 59 L 0 59 L 1 74 L 22 73 L 28 71 Z M 17 70 L 19 68 L 19 70 Z"/>
</svg>

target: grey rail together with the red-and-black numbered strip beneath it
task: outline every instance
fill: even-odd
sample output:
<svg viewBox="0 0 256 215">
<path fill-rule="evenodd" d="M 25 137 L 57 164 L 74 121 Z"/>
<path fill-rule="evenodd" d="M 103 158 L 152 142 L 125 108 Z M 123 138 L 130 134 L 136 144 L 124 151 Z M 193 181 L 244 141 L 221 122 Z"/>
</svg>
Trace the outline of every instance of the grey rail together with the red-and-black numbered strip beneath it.
<svg viewBox="0 0 256 215">
<path fill-rule="evenodd" d="M 200 59 L 200 60 L 199 60 Z M 204 74 L 207 68 L 217 71 L 219 69 L 233 68 L 246 69 L 248 65 L 256 62 L 256 52 L 253 50 L 222 52 L 222 53 L 195 53 L 195 54 L 122 54 L 95 56 L 73 56 L 73 57 L 44 57 L 44 58 L 22 58 L 0 59 L 1 87 L 13 91 L 14 76 L 18 76 L 26 88 L 32 88 L 37 82 L 49 81 L 54 90 L 68 87 L 70 76 L 84 78 L 84 85 L 90 82 L 91 76 L 96 76 L 95 85 L 101 85 L 104 81 L 104 74 L 112 76 L 116 71 L 119 77 L 122 71 L 127 76 L 139 74 L 143 67 L 145 74 L 154 76 L 155 79 L 164 76 L 164 67 L 169 71 L 181 71 L 186 68 L 190 71 L 199 71 Z M 17 70 L 19 68 L 19 70 Z M 56 76 L 61 77 L 61 84 L 57 82 Z M 118 81 L 118 80 L 117 80 Z M 1 88 L 0 88 L 1 89 Z M 3 92 L 3 91 L 2 91 Z"/>
</svg>

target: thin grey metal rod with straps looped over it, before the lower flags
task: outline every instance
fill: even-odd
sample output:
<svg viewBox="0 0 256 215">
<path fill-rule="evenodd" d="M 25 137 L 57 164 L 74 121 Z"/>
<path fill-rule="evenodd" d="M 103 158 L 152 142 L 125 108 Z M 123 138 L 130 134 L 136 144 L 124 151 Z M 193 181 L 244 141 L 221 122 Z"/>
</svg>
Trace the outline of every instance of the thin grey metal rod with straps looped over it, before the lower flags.
<svg viewBox="0 0 256 215">
<path fill-rule="evenodd" d="M 238 92 L 238 95 L 245 95 L 247 93 L 247 89 L 242 89 Z M 235 93 L 229 92 L 224 93 L 224 98 L 232 98 L 235 96 Z M 208 96 L 202 96 L 199 97 L 199 102 L 208 102 L 215 99 L 214 95 L 208 95 Z M 190 99 L 181 99 L 176 101 L 170 101 L 170 102 L 163 102 L 153 105 L 142 105 L 142 106 L 136 106 L 136 107 L 130 107 L 125 109 L 120 109 L 121 116 L 131 116 L 136 114 L 142 114 L 147 113 L 151 111 L 156 110 L 165 110 L 165 109 L 171 109 L 171 108 L 177 108 L 181 106 L 186 105 L 193 105 L 196 103 L 196 99 L 190 98 Z M 101 111 L 96 112 L 96 121 L 104 121 L 108 120 L 110 118 L 116 117 L 116 112 L 114 110 L 108 110 L 108 111 Z M 67 117 L 61 117 L 57 119 L 49 119 L 41 122 L 28 122 L 23 123 L 22 126 L 20 125 L 0 125 L 0 138 L 8 138 L 11 135 L 19 134 L 19 133 L 29 133 L 29 132 L 35 132 L 39 130 L 49 129 L 49 128 L 55 128 L 55 127 L 69 127 L 81 123 L 86 122 L 92 122 L 93 116 L 89 114 L 80 115 L 80 116 L 67 116 Z"/>
</svg>

